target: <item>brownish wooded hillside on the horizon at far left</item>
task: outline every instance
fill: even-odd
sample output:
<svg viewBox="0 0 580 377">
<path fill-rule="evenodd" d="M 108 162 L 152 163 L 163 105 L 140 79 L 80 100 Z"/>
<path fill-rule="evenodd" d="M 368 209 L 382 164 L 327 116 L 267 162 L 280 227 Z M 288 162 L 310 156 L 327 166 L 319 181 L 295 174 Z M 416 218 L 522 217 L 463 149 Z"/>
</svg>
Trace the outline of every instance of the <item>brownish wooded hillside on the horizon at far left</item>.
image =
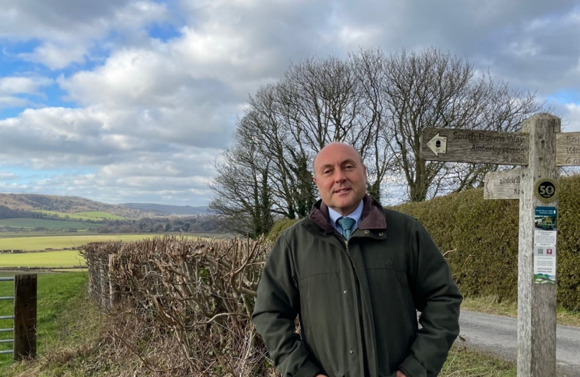
<svg viewBox="0 0 580 377">
<path fill-rule="evenodd" d="M 78 212 L 108 212 L 118 216 L 138 218 L 154 216 L 157 213 L 142 211 L 140 209 L 124 207 L 122 205 L 110 205 L 95 202 L 78 196 L 57 196 L 40 194 L 6 194 L 0 193 L 0 206 L 6 206 L 13 211 L 32 211 L 42 209 L 45 211 L 64 212 L 75 214 Z"/>
</svg>

